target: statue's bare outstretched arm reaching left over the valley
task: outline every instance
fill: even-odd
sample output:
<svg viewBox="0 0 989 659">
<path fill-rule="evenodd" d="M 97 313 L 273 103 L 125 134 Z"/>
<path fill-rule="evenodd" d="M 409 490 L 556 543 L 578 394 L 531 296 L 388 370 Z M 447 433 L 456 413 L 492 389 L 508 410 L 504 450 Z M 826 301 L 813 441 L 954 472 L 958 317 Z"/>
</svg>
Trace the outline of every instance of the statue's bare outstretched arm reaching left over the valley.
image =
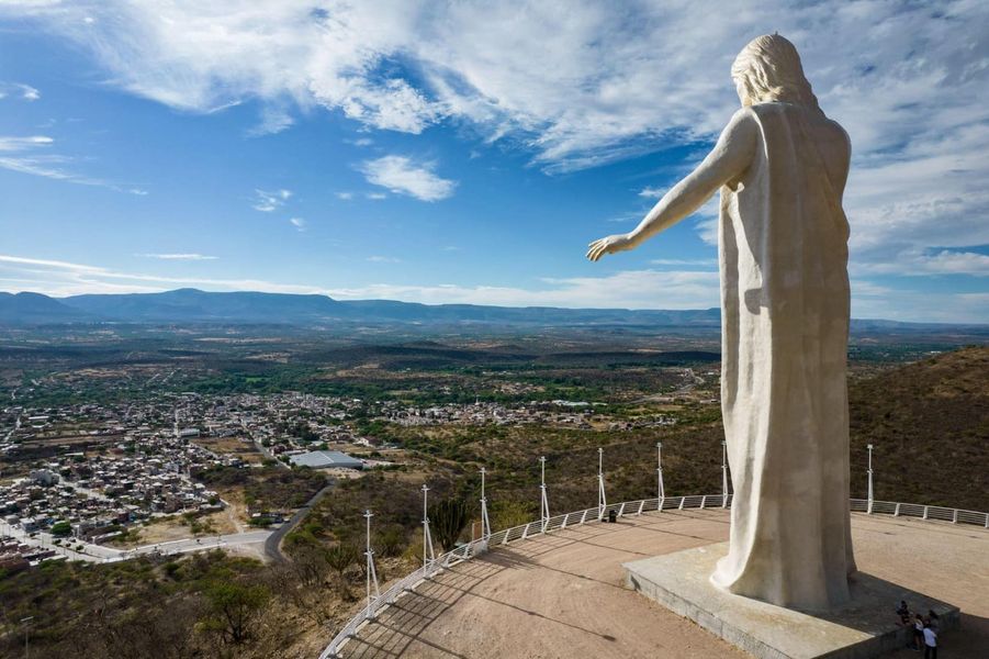
<svg viewBox="0 0 989 659">
<path fill-rule="evenodd" d="M 758 124 L 751 110 L 742 109 L 721 132 L 715 148 L 686 178 L 673 186 L 633 231 L 591 243 L 587 258 L 638 247 L 696 211 L 721 186 L 741 176 L 755 153 Z"/>
</svg>

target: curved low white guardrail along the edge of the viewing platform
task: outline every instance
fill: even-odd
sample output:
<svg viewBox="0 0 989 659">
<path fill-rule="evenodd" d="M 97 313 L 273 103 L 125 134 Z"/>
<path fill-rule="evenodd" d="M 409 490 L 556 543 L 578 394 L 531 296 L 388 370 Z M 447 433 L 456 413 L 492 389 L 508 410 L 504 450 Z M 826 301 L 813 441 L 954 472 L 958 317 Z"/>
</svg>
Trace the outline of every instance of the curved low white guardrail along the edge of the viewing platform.
<svg viewBox="0 0 989 659">
<path fill-rule="evenodd" d="M 852 499 L 852 512 L 867 514 L 884 514 L 896 517 L 920 517 L 922 520 L 939 520 L 942 522 L 951 522 L 953 524 L 974 524 L 984 528 L 989 528 L 989 513 L 980 513 L 977 511 L 960 511 L 957 509 L 941 507 L 936 505 L 920 505 L 915 503 L 895 503 L 890 501 L 869 501 L 866 499 Z M 373 621 L 379 612 L 394 604 L 398 597 L 405 593 L 415 591 L 415 589 L 424 581 L 435 577 L 442 570 L 461 563 L 465 560 L 483 554 L 484 551 L 501 545 L 507 545 L 514 540 L 525 540 L 526 538 L 542 535 L 551 530 L 562 530 L 567 526 L 580 526 L 592 522 L 600 522 L 607 516 L 608 511 L 615 511 L 619 517 L 628 515 L 641 515 L 642 513 L 655 512 L 659 510 L 684 510 L 684 509 L 706 509 L 706 507 L 730 507 L 731 495 L 727 498 L 723 494 L 694 494 L 687 496 L 666 496 L 660 499 L 640 499 L 638 501 L 626 501 L 625 503 L 606 506 L 604 515 L 597 506 L 557 515 L 549 520 L 536 520 L 528 524 L 513 526 L 497 533 L 491 534 L 485 539 L 477 539 L 465 545 L 457 547 L 452 551 L 447 551 L 436 557 L 427 566 L 423 566 L 415 572 L 406 574 L 391 585 L 386 591 L 381 593 L 380 597 L 372 599 L 370 604 L 364 606 L 353 618 L 347 623 L 342 629 L 329 641 L 319 659 L 336 659 L 340 657 L 340 647 L 348 639 L 357 635 L 358 628 L 368 621 Z"/>
</svg>

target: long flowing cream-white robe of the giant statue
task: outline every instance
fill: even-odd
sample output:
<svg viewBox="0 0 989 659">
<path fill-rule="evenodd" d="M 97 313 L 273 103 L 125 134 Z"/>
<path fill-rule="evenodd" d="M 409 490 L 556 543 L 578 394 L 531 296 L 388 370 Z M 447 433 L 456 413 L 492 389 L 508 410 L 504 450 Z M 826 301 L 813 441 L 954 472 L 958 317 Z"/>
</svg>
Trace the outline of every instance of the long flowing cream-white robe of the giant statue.
<svg viewBox="0 0 989 659">
<path fill-rule="evenodd" d="M 755 155 L 721 189 L 721 405 L 734 492 L 729 554 L 711 580 L 822 610 L 848 600 L 855 570 L 841 205 L 850 152 L 835 161 L 821 148 L 847 135 L 816 109 L 750 110 Z"/>
</svg>

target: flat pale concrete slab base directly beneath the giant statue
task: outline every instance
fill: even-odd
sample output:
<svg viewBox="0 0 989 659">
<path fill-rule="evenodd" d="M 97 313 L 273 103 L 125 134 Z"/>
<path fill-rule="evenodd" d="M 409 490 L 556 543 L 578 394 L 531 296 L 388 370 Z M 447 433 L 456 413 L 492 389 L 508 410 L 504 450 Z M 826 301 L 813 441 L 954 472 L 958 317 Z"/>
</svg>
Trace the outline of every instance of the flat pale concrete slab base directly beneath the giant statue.
<svg viewBox="0 0 989 659">
<path fill-rule="evenodd" d="M 858 572 L 852 601 L 840 610 L 805 613 L 715 588 L 709 577 L 728 543 L 625 563 L 626 582 L 666 608 L 760 659 L 867 659 L 907 645 L 913 629 L 896 608 L 933 610 L 941 632 L 958 625 L 959 610 L 895 583 Z"/>
</svg>

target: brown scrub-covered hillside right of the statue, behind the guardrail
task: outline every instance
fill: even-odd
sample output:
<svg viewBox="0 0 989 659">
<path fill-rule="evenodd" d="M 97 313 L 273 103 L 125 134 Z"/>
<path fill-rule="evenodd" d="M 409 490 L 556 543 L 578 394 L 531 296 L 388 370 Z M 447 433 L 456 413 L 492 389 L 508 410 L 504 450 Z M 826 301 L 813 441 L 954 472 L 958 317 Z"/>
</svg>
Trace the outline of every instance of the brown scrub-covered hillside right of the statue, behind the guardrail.
<svg viewBox="0 0 989 659">
<path fill-rule="evenodd" d="M 963 348 L 855 382 L 852 495 L 989 511 L 989 347 Z"/>
</svg>

